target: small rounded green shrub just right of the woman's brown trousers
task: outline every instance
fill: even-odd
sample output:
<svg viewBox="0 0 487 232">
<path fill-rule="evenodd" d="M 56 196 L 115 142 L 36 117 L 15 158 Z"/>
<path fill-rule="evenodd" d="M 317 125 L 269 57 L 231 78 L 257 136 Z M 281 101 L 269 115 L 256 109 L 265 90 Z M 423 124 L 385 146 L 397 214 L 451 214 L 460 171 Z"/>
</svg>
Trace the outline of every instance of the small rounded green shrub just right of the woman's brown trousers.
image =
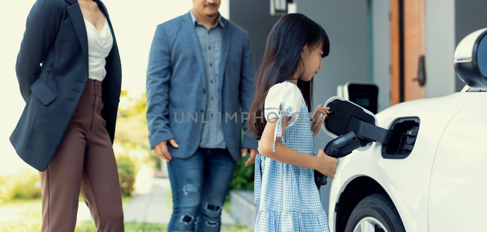
<svg viewBox="0 0 487 232">
<path fill-rule="evenodd" d="M 131 196 L 134 190 L 135 175 L 137 174 L 135 164 L 130 157 L 117 157 L 118 181 L 122 196 Z"/>
</svg>

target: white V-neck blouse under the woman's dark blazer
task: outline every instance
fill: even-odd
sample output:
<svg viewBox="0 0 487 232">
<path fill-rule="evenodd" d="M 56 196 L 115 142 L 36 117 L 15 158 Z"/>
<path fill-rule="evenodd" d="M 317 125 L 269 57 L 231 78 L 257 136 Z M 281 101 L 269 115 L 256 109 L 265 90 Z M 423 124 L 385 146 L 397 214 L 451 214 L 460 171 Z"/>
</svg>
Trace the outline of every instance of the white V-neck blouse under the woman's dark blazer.
<svg viewBox="0 0 487 232">
<path fill-rule="evenodd" d="M 105 58 L 113 47 L 112 31 L 106 18 L 101 33 L 88 19 L 84 20 L 88 35 L 88 78 L 101 82 L 107 75 Z"/>
</svg>

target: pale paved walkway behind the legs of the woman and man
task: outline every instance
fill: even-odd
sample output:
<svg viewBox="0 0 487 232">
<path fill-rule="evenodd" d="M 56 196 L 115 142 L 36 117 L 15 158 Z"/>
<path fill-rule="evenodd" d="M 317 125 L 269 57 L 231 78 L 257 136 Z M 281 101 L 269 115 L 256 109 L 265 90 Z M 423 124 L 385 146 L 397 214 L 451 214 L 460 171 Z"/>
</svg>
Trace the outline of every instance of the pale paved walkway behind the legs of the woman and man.
<svg viewBox="0 0 487 232">
<path fill-rule="evenodd" d="M 135 196 L 124 209 L 126 222 L 169 223 L 172 200 L 169 179 L 154 178 L 149 168 L 141 168 L 136 178 Z M 79 202 L 77 221 L 92 221 L 90 210 Z M 235 220 L 222 211 L 222 225 L 235 226 Z"/>
</svg>

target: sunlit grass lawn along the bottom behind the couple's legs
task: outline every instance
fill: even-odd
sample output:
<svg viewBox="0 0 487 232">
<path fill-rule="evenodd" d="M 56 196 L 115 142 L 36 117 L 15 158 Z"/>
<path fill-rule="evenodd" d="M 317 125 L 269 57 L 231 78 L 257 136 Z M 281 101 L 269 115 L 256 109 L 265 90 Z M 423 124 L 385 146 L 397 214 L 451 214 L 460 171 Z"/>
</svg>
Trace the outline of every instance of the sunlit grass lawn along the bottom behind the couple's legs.
<svg viewBox="0 0 487 232">
<path fill-rule="evenodd" d="M 122 199 L 123 207 L 130 197 Z M 41 199 L 16 199 L 0 203 L 0 232 L 36 232 L 41 228 Z M 165 232 L 167 224 L 125 222 L 126 232 Z M 223 227 L 222 232 L 251 232 L 242 224 Z M 96 232 L 94 222 L 78 222 L 75 232 Z"/>
</svg>

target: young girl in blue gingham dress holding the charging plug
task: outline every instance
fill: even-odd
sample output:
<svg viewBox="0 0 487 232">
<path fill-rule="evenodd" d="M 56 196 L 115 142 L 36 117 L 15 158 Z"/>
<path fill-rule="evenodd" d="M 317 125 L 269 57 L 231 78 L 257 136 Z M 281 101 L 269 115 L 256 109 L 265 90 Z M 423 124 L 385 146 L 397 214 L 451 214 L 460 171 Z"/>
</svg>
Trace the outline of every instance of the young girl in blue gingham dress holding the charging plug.
<svg viewBox="0 0 487 232">
<path fill-rule="evenodd" d="M 319 105 L 311 117 L 308 113 L 313 76 L 329 49 L 323 28 L 301 14 L 281 17 L 267 38 L 250 109 L 255 115 L 248 120 L 250 133 L 259 139 L 256 232 L 330 230 L 314 182 L 314 169 L 333 178 L 337 168 L 337 159 L 315 148 L 329 108 Z M 265 121 L 256 117 L 262 111 Z"/>
</svg>

